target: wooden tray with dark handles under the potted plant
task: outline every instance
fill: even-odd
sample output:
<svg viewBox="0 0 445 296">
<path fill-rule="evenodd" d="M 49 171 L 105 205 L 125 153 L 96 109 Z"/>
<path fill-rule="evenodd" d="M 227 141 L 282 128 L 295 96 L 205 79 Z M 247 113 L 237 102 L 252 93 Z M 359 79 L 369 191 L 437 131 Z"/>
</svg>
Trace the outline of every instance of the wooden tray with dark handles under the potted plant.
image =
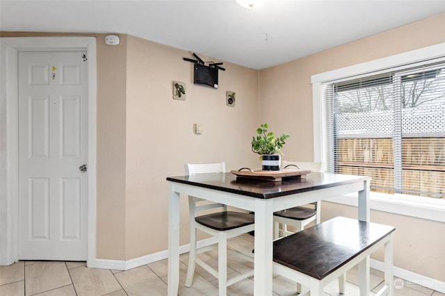
<svg viewBox="0 0 445 296">
<path fill-rule="evenodd" d="M 250 178 L 266 181 L 282 181 L 283 178 L 288 177 L 301 177 L 302 175 L 309 174 L 310 170 L 301 169 L 284 169 L 279 171 L 264 171 L 264 170 L 250 170 L 243 167 L 240 170 L 230 171 L 232 174 L 236 174 L 237 178 Z"/>
</svg>

